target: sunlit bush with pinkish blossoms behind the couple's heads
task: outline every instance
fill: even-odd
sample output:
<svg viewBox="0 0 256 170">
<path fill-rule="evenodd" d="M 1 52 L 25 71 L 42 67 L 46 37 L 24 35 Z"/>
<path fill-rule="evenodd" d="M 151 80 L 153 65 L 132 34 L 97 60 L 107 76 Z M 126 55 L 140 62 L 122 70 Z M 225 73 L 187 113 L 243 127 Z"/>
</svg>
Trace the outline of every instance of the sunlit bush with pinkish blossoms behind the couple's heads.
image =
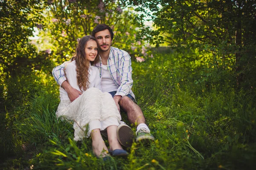
<svg viewBox="0 0 256 170">
<path fill-rule="evenodd" d="M 52 62 L 63 62 L 73 56 L 81 37 L 91 34 L 99 23 L 105 23 L 113 29 L 114 47 L 139 55 L 143 41 L 135 41 L 139 24 L 132 10 L 123 0 L 52 0 L 45 3 L 44 12 L 38 16 L 41 39 L 33 43 L 47 42 L 47 46 L 40 45 L 41 50 L 50 53 Z"/>
</svg>

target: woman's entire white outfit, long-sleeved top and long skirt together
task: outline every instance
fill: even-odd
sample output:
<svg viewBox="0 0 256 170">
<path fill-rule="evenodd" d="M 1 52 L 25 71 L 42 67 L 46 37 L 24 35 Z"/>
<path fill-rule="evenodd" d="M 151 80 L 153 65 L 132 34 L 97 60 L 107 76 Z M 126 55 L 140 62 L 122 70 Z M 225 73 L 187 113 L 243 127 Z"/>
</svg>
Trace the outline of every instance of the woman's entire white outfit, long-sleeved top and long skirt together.
<svg viewBox="0 0 256 170">
<path fill-rule="evenodd" d="M 66 77 L 73 88 L 80 91 L 76 78 L 76 61 L 66 65 Z M 93 129 L 105 130 L 108 126 L 120 124 L 121 116 L 116 104 L 107 92 L 100 89 L 101 79 L 95 66 L 89 68 L 89 88 L 81 91 L 82 95 L 70 102 L 67 92 L 60 87 L 61 102 L 56 116 L 74 121 L 75 140 L 89 137 Z"/>
</svg>

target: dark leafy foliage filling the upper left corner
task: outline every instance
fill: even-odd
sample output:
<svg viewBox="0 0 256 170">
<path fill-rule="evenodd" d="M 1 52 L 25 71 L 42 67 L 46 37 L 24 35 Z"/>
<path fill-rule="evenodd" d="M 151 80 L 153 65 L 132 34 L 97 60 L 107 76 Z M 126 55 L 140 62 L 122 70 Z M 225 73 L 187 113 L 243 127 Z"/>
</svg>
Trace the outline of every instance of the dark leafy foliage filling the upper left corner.
<svg viewBox="0 0 256 170">
<path fill-rule="evenodd" d="M 35 46 L 29 44 L 35 27 L 31 15 L 40 9 L 39 4 L 40 0 L 0 2 L 0 77 L 31 70 L 36 60 Z"/>
</svg>

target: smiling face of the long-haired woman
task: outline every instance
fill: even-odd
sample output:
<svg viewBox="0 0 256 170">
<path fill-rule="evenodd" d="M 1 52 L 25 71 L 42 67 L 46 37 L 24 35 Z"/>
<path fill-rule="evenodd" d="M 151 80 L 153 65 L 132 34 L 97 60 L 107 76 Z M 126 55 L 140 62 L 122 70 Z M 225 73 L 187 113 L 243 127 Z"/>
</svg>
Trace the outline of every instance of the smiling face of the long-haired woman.
<svg viewBox="0 0 256 170">
<path fill-rule="evenodd" d="M 96 41 L 89 40 L 85 45 L 85 57 L 89 61 L 94 61 L 98 54 L 98 46 Z"/>
</svg>

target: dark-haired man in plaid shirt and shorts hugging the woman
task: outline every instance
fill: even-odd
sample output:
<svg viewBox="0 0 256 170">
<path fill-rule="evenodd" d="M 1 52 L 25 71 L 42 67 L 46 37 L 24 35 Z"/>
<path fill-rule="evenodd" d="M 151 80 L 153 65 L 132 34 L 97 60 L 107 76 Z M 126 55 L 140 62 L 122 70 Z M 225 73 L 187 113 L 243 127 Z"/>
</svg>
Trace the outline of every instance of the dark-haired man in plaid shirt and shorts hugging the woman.
<svg viewBox="0 0 256 170">
<path fill-rule="evenodd" d="M 120 108 L 128 115 L 131 124 L 138 125 L 136 131 L 136 142 L 149 140 L 153 141 L 154 136 L 151 135 L 148 126 L 145 124 L 145 117 L 140 107 L 135 103 L 135 96 L 131 91 L 133 80 L 131 78 L 131 57 L 123 50 L 111 47 L 114 37 L 112 29 L 105 25 L 99 24 L 93 29 L 93 37 L 96 37 L 99 43 L 100 62 L 95 66 L 99 68 L 101 77 L 102 92 L 108 92 L 113 96 L 118 110 Z M 79 95 L 80 91 L 72 88 L 66 81 L 64 75 L 65 63 L 55 67 L 52 70 L 53 77 L 67 91 L 68 97 L 73 102 Z M 128 141 L 131 128 L 127 125 L 119 125 L 117 136 L 119 142 L 124 146 L 130 146 Z"/>
</svg>

